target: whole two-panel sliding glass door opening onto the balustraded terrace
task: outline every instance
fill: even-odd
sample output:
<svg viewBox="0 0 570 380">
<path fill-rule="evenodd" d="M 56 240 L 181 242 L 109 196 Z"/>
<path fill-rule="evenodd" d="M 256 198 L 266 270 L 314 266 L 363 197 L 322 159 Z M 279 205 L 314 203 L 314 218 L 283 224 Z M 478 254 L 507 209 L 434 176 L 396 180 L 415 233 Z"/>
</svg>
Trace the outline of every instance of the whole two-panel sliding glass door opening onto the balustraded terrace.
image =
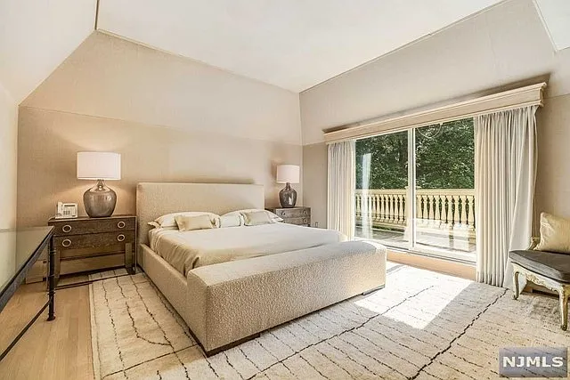
<svg viewBox="0 0 570 380">
<path fill-rule="evenodd" d="M 356 236 L 475 260 L 473 120 L 356 141 Z"/>
</svg>

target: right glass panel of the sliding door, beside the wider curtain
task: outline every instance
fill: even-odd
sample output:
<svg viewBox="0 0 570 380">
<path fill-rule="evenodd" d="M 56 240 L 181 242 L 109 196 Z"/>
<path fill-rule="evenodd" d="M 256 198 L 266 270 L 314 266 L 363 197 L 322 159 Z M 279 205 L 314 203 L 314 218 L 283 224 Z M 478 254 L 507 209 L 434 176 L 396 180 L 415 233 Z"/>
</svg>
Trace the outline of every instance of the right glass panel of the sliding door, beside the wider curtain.
<svg viewBox="0 0 570 380">
<path fill-rule="evenodd" d="M 473 119 L 415 130 L 414 250 L 475 260 Z"/>
</svg>

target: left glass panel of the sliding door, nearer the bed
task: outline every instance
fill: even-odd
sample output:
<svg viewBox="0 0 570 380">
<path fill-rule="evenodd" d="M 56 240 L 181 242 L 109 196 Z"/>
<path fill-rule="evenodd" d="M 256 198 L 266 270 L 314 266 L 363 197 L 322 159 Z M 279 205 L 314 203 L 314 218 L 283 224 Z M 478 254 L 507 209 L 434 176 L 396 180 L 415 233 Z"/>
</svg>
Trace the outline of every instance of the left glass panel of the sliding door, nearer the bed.
<svg viewBox="0 0 570 380">
<path fill-rule="evenodd" d="M 410 247 L 408 132 L 356 141 L 355 235 Z"/>
</svg>

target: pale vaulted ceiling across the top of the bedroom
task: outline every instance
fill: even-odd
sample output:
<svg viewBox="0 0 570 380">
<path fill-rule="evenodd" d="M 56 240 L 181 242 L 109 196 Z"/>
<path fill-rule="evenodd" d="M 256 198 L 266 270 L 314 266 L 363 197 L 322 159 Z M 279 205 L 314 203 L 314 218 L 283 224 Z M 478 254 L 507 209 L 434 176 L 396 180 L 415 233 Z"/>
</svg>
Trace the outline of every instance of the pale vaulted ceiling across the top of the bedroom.
<svg viewBox="0 0 570 380">
<path fill-rule="evenodd" d="M 96 13 L 97 0 L 5 0 L 0 85 L 20 103 L 96 20 L 112 35 L 298 93 L 503 1 L 99 0 Z M 570 47 L 570 1 L 533 2 L 554 49 Z"/>
</svg>

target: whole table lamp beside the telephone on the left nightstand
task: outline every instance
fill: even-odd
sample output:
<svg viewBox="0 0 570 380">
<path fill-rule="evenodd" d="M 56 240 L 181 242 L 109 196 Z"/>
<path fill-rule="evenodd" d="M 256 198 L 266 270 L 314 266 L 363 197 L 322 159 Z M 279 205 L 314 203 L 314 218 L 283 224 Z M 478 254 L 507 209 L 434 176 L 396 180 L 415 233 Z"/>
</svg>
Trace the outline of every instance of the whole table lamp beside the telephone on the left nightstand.
<svg viewBox="0 0 570 380">
<path fill-rule="evenodd" d="M 121 179 L 119 153 L 77 152 L 77 179 L 97 181 L 83 194 L 83 205 L 90 217 L 102 218 L 113 214 L 117 194 L 105 185 L 105 180 Z"/>
</svg>

